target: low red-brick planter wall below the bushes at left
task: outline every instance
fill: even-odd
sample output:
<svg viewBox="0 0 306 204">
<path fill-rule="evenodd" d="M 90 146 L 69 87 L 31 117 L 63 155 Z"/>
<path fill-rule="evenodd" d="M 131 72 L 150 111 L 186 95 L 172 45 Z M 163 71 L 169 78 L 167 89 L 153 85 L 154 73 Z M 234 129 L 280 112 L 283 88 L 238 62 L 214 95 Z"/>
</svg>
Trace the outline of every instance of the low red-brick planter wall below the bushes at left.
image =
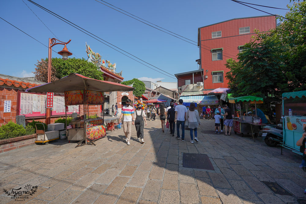
<svg viewBox="0 0 306 204">
<path fill-rule="evenodd" d="M 35 144 L 35 138 L 34 134 L 0 140 L 0 153 L 33 145 Z"/>
</svg>

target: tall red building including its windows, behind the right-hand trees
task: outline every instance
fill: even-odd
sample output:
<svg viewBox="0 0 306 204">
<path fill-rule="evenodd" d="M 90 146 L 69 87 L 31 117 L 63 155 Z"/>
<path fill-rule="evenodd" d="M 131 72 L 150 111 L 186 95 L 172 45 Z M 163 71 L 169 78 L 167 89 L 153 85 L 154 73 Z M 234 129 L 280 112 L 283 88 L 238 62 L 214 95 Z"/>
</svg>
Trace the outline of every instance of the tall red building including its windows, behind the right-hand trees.
<svg viewBox="0 0 306 204">
<path fill-rule="evenodd" d="M 237 58 L 244 49 L 243 45 L 255 35 L 255 29 L 266 32 L 271 28 L 276 28 L 276 17 L 272 15 L 234 18 L 198 28 L 204 89 L 227 87 L 225 74 L 229 70 L 224 65 L 226 59 Z"/>
</svg>

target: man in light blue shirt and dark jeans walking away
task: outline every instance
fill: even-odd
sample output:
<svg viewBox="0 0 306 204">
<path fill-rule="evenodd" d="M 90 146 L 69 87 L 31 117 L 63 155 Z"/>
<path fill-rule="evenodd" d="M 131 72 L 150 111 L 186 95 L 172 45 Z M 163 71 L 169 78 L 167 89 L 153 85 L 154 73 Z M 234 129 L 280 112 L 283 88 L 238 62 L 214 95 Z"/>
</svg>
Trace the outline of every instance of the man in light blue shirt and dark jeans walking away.
<svg viewBox="0 0 306 204">
<path fill-rule="evenodd" d="M 178 104 L 175 107 L 175 120 L 176 122 L 176 130 L 177 130 L 177 137 L 175 139 L 180 139 L 180 125 L 182 126 L 182 142 L 185 141 L 185 116 L 187 113 L 186 106 L 183 106 L 183 100 L 178 100 Z"/>
</svg>

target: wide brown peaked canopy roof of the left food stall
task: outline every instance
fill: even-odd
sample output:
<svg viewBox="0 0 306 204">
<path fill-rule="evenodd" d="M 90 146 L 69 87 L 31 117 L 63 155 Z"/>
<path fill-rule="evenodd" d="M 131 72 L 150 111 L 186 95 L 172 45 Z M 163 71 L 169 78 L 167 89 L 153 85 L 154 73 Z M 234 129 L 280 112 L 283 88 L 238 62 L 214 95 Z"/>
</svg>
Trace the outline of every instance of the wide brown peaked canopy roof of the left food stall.
<svg viewBox="0 0 306 204">
<path fill-rule="evenodd" d="M 85 89 L 101 92 L 134 90 L 133 87 L 129 87 L 120 83 L 91 79 L 80 74 L 71 73 L 69 74 L 69 76 L 65 76 L 62 79 L 32 87 L 27 89 L 26 91 L 38 93 L 64 93 L 65 91 L 76 91 Z"/>
</svg>

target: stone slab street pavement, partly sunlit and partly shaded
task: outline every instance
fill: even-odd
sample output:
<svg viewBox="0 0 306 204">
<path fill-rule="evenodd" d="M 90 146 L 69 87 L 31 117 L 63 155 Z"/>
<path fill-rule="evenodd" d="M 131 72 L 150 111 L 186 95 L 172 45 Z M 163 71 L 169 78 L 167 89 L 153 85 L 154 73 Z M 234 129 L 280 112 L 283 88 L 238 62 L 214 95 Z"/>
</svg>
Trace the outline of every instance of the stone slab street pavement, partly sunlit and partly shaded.
<svg viewBox="0 0 306 204">
<path fill-rule="evenodd" d="M 122 139 L 123 129 L 107 131 L 96 146 L 77 147 L 57 140 L 0 154 L 1 189 L 38 186 L 35 194 L 0 203 L 298 203 L 306 200 L 306 174 L 301 156 L 268 147 L 250 136 L 215 134 L 213 120 L 201 120 L 199 143 L 185 142 L 161 131 L 160 121 L 148 121 L 144 144 Z M 175 130 L 176 135 L 176 130 Z M 207 154 L 215 170 L 189 169 L 183 153 Z M 275 182 L 288 195 L 271 191 Z"/>
</svg>

